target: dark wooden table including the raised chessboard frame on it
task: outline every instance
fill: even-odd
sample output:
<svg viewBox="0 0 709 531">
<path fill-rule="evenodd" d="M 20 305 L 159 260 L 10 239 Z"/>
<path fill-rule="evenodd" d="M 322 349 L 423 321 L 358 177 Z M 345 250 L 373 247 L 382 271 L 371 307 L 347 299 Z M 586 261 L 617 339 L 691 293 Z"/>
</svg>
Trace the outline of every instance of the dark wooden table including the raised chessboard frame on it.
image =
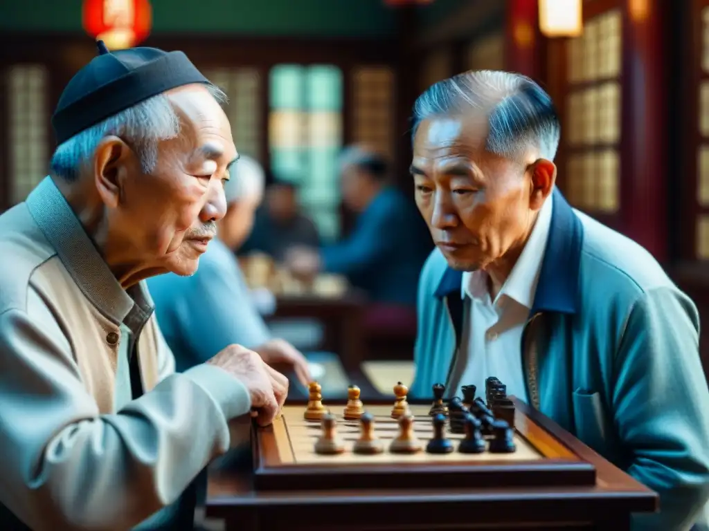
<svg viewBox="0 0 709 531">
<path fill-rule="evenodd" d="M 308 474 L 303 476 L 301 469 L 297 483 L 289 481 L 286 474 L 283 489 L 274 490 L 273 478 L 264 483 L 255 472 L 263 470 L 264 452 L 273 452 L 272 447 L 267 447 L 273 438 L 269 439 L 257 430 L 252 435 L 252 466 L 246 464 L 242 469 L 211 477 L 207 515 L 225 520 L 227 530 L 240 531 L 500 531 L 530 528 L 615 531 L 630 529 L 631 513 L 657 510 L 654 492 L 613 467 L 537 411 L 519 401 L 515 401 L 515 407 L 520 418 L 527 418 L 531 423 L 531 428 L 525 428 L 527 433 L 530 429 L 537 430 L 549 438 L 547 442 L 552 446 L 561 445 L 576 456 L 574 459 L 588 463 L 595 470 L 595 480 L 588 482 L 588 476 L 584 476 L 585 483 L 569 484 L 566 481 L 560 485 L 545 479 L 541 484 L 532 480 L 526 486 L 503 487 L 499 486 L 502 480 L 491 479 L 493 485 L 483 487 L 479 478 L 477 481 L 466 480 L 466 474 L 460 474 L 460 470 L 456 483 L 453 476 L 440 475 L 445 474 L 441 469 L 431 474 L 430 481 L 421 483 L 419 478 L 419 484 L 406 486 L 404 481 L 392 488 L 393 479 L 380 476 L 378 483 L 369 483 L 368 488 L 364 488 L 363 482 L 368 481 L 364 472 L 342 474 L 342 469 L 338 472 L 333 467 L 327 488 L 318 486 L 317 474 L 311 474 L 307 479 Z M 538 440 L 537 445 L 544 444 Z M 274 462 L 277 466 L 277 457 L 269 459 L 272 466 Z M 387 466 L 391 468 L 391 465 Z M 401 469 L 405 468 L 403 465 L 398 469 L 391 468 L 391 474 L 401 475 Z M 341 481 L 335 485 L 333 481 L 337 474 L 341 475 Z M 403 474 L 405 479 L 406 472 Z M 358 488 L 351 488 L 350 484 L 358 484 Z"/>
</svg>

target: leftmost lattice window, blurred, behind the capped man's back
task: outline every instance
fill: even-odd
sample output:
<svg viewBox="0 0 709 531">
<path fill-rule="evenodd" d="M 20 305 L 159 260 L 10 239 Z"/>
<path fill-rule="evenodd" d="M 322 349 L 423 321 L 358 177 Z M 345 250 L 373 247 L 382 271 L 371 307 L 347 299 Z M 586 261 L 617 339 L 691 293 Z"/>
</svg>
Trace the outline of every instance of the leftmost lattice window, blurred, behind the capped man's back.
<svg viewBox="0 0 709 531">
<path fill-rule="evenodd" d="M 10 202 L 21 202 L 45 177 L 48 165 L 48 74 L 40 64 L 7 71 Z"/>
</svg>

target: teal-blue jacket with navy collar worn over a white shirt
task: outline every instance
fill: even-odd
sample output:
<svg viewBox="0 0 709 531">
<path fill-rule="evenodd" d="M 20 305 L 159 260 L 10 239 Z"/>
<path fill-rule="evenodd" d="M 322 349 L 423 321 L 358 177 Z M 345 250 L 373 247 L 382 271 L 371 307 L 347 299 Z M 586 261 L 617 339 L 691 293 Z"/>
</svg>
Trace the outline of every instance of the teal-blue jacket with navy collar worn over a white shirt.
<svg viewBox="0 0 709 531">
<path fill-rule="evenodd" d="M 552 195 L 523 357 L 532 406 L 660 496 L 637 531 L 709 529 L 709 390 L 695 305 L 641 246 Z M 462 273 L 433 251 L 418 286 L 411 396 L 448 382 Z"/>
</svg>

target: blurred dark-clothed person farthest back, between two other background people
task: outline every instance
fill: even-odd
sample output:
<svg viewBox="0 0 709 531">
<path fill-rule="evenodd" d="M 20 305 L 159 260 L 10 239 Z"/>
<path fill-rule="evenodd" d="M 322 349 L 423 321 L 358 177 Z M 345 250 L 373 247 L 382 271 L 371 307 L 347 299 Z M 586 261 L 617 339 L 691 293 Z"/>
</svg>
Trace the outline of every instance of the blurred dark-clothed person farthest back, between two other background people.
<svg viewBox="0 0 709 531">
<path fill-rule="evenodd" d="M 239 249 L 240 255 L 260 251 L 284 262 L 293 246 L 318 247 L 320 236 L 313 220 L 298 205 L 298 186 L 267 172 L 266 200 L 256 212 L 253 231 Z"/>
</svg>

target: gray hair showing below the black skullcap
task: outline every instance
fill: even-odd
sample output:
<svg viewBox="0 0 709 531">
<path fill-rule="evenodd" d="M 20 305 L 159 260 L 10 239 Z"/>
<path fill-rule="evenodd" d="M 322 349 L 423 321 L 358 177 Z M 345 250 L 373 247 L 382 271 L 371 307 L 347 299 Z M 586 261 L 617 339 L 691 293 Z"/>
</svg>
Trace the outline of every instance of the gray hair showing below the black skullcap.
<svg viewBox="0 0 709 531">
<path fill-rule="evenodd" d="M 218 103 L 226 103 L 225 93 L 216 86 L 207 85 L 207 89 Z M 108 135 L 116 135 L 138 152 L 143 173 L 151 173 L 157 164 L 158 144 L 177 138 L 179 132 L 179 117 L 167 94 L 158 94 L 60 144 L 52 155 L 50 168 L 52 173 L 65 181 L 75 181 L 86 164 L 90 163 L 101 140 Z"/>
</svg>

